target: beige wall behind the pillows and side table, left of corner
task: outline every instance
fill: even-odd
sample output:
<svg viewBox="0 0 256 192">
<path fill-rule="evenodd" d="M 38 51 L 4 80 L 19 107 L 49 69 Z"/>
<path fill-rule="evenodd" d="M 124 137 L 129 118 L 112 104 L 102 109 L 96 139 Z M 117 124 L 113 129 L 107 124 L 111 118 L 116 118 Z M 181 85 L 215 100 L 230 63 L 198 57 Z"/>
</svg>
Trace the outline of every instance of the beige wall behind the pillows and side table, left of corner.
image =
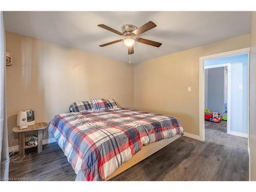
<svg viewBox="0 0 256 192">
<path fill-rule="evenodd" d="M 9 145 L 18 111 L 34 109 L 37 122 L 49 122 L 72 102 L 90 98 L 134 107 L 133 65 L 11 32 L 6 46 L 13 56 L 7 67 Z"/>
</svg>

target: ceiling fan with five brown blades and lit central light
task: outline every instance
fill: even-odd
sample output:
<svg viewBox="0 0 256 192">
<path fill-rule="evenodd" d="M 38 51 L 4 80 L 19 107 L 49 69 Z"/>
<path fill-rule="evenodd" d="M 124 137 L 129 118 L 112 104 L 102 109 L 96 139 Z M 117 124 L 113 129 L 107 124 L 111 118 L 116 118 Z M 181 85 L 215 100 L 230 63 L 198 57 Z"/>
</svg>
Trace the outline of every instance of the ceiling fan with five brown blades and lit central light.
<svg viewBox="0 0 256 192">
<path fill-rule="evenodd" d="M 111 27 L 109 27 L 109 26 L 106 26 L 104 24 L 100 24 L 98 26 L 103 28 L 103 29 L 106 29 L 108 31 L 111 31 L 113 33 L 116 33 L 120 36 L 125 37 L 124 39 L 118 39 L 118 40 L 108 42 L 106 44 L 102 44 L 102 45 L 100 45 L 100 47 L 109 46 L 109 45 L 115 44 L 116 42 L 123 41 L 124 45 L 127 46 L 128 54 L 131 55 L 131 54 L 134 54 L 134 43 L 135 43 L 135 41 L 141 42 L 142 44 L 147 44 L 147 45 L 150 45 L 150 46 L 154 46 L 154 47 L 160 47 L 162 45 L 161 42 L 156 42 L 156 41 L 153 41 L 153 40 L 148 40 L 148 39 L 138 37 L 138 35 L 156 27 L 156 24 L 154 24 L 151 21 L 147 22 L 146 24 L 144 24 L 143 26 L 141 26 L 139 28 L 137 28 L 134 25 L 124 25 L 122 27 L 122 33 L 113 29 L 113 28 L 111 28 Z"/>
</svg>

